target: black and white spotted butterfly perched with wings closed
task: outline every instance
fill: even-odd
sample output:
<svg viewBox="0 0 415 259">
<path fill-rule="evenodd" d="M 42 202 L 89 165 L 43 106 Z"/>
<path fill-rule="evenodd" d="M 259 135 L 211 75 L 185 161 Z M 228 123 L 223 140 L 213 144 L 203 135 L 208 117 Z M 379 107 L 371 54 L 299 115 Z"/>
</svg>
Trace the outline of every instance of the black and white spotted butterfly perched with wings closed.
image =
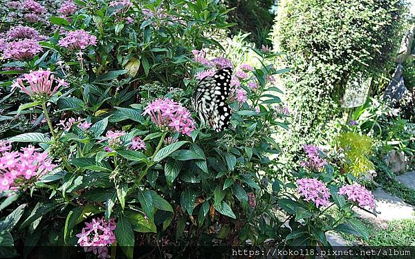
<svg viewBox="0 0 415 259">
<path fill-rule="evenodd" d="M 209 123 L 217 132 L 227 128 L 230 122 L 230 107 L 225 101 L 230 92 L 231 77 L 231 68 L 222 68 L 212 77 L 204 77 L 192 98 L 192 106 L 201 124 Z"/>
</svg>

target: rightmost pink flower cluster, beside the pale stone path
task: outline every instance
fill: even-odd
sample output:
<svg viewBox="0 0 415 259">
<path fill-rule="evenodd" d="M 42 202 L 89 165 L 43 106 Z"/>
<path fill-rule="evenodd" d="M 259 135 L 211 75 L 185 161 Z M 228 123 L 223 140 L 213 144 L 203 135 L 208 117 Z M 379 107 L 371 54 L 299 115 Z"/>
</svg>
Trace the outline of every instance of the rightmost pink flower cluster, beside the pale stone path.
<svg viewBox="0 0 415 259">
<path fill-rule="evenodd" d="M 340 195 L 346 195 L 347 200 L 357 202 L 360 207 L 370 207 L 375 209 L 375 198 L 371 191 L 358 183 L 342 186 L 338 192 Z"/>
</svg>

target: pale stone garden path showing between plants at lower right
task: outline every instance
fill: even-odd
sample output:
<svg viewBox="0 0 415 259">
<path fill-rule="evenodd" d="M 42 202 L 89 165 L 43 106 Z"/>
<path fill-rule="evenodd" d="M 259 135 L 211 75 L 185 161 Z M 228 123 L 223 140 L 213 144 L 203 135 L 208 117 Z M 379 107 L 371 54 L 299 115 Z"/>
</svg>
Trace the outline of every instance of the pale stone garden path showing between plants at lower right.
<svg viewBox="0 0 415 259">
<path fill-rule="evenodd" d="M 398 175 L 396 180 L 408 188 L 415 189 L 415 171 Z M 373 193 L 378 215 L 376 217 L 371 213 L 358 209 L 356 212 L 360 214 L 361 218 L 369 219 L 379 225 L 386 225 L 386 227 L 387 222 L 391 220 L 415 219 L 415 206 L 407 204 L 402 199 L 387 193 L 382 188 L 376 189 Z M 332 246 L 347 246 L 347 241 L 338 233 L 327 233 L 326 237 Z"/>
</svg>

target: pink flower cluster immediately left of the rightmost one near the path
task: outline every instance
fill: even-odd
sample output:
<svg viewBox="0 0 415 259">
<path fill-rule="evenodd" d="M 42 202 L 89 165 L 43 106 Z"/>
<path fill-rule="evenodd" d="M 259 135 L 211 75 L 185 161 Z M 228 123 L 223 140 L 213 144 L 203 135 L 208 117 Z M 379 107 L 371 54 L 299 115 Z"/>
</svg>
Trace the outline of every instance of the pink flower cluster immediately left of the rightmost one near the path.
<svg viewBox="0 0 415 259">
<path fill-rule="evenodd" d="M 296 182 L 298 186 L 297 193 L 302 196 L 304 200 L 311 200 L 315 203 L 317 208 L 329 205 L 329 189 L 323 182 L 314 178 L 302 178 Z"/>
</svg>

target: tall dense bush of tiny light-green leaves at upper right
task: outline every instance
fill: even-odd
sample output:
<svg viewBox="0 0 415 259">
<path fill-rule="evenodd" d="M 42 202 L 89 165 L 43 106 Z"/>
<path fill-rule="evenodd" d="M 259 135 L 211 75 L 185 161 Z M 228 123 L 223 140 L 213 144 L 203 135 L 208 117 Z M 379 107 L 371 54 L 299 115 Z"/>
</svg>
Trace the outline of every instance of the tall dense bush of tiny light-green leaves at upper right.
<svg viewBox="0 0 415 259">
<path fill-rule="evenodd" d="M 403 1 L 281 1 L 273 31 L 293 111 L 289 148 L 304 140 L 329 143 L 331 121 L 341 115 L 347 87 L 358 92 L 364 81 L 378 87 L 388 77 L 405 25 Z M 292 153 L 292 151 L 290 151 Z"/>
</svg>

